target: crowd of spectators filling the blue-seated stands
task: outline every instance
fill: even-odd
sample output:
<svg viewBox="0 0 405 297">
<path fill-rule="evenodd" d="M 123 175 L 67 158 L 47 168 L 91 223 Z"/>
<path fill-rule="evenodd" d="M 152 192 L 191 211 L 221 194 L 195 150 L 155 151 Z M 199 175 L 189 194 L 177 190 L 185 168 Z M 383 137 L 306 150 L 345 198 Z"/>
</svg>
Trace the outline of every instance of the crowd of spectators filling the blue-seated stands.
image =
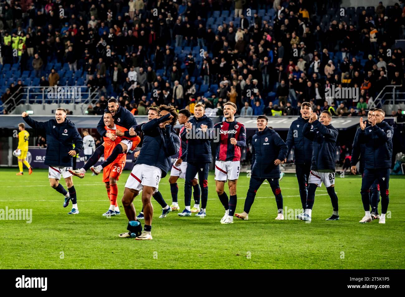
<svg viewBox="0 0 405 297">
<path fill-rule="evenodd" d="M 311 102 L 318 115 L 366 116 L 384 86 L 403 87 L 405 56 L 390 49 L 403 36 L 404 6 L 7 1 L 0 6 L 1 99 L 24 83 L 87 85 L 98 91 L 87 109 L 96 115 L 115 96 L 134 115 L 160 104 L 193 113 L 198 102 L 220 115 L 230 101 L 240 115 L 297 115 Z M 19 75 L 7 85 L 13 69 Z M 333 85 L 359 88 L 359 100 L 325 96 Z"/>
</svg>

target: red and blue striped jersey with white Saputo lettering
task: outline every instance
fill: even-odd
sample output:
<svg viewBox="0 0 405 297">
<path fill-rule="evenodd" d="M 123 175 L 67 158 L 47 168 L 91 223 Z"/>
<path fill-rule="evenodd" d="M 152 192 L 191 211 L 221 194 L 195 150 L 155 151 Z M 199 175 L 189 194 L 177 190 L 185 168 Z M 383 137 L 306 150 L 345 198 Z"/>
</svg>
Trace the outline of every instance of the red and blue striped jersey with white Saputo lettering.
<svg viewBox="0 0 405 297">
<path fill-rule="evenodd" d="M 241 147 L 246 145 L 246 129 L 242 123 L 223 121 L 216 123 L 213 132 L 220 135 L 220 144 L 217 146 L 216 160 L 218 161 L 240 161 Z M 235 138 L 236 145 L 230 143 Z"/>
</svg>

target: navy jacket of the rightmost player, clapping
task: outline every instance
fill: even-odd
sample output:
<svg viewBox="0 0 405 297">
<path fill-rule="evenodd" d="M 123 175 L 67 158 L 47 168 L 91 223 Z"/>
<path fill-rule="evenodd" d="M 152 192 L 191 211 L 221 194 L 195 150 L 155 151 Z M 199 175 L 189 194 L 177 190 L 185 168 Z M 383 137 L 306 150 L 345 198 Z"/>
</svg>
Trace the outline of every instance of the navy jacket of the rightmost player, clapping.
<svg viewBox="0 0 405 297">
<path fill-rule="evenodd" d="M 365 169 L 391 168 L 393 136 L 394 129 L 386 121 L 359 132 L 359 141 L 365 144 Z"/>
</svg>

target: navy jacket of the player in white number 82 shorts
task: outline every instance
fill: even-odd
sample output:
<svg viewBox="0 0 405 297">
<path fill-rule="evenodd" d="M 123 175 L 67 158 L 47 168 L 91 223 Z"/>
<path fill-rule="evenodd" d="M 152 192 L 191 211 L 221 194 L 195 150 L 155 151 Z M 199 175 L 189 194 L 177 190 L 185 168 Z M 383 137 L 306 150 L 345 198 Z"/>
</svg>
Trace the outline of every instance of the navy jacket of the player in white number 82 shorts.
<svg viewBox="0 0 405 297">
<path fill-rule="evenodd" d="M 306 123 L 304 136 L 313 141 L 311 170 L 335 170 L 336 140 L 339 132 L 331 124 L 325 126 L 318 120 Z"/>
</svg>

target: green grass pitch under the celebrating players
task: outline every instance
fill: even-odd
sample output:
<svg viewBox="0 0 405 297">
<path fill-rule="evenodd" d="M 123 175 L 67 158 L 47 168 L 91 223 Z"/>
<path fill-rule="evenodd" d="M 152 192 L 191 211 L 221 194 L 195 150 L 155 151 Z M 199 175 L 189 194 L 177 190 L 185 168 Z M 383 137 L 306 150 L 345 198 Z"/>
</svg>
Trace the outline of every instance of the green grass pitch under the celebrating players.
<svg viewBox="0 0 405 297">
<path fill-rule="evenodd" d="M 23 176 L 15 176 L 15 169 L 0 170 L 0 209 L 32 209 L 32 223 L 0 221 L 0 269 L 405 268 L 402 177 L 391 176 L 391 218 L 385 225 L 378 221 L 358 223 L 364 215 L 360 176 L 336 179 L 340 221 L 325 221 L 332 214 L 332 206 L 324 187 L 316 193 L 312 223 L 275 221 L 275 199 L 270 186 L 263 184 L 249 221 L 235 218 L 234 224 L 222 225 L 224 209 L 211 173 L 205 219 L 194 215 L 181 218 L 176 212 L 159 219 L 160 206 L 153 200 L 153 240 L 138 241 L 118 237 L 128 223 L 120 200 L 129 171 L 123 172 L 118 185 L 121 215 L 107 219 L 102 213 L 108 209 L 109 201 L 100 176 L 74 177 L 80 214 L 68 215 L 71 204 L 62 207 L 63 197 L 49 187 L 47 171 L 34 170 L 30 176 L 24 170 Z M 183 180 L 178 185 L 182 209 Z M 237 212 L 243 211 L 248 185 L 249 178 L 242 173 L 237 187 Z M 295 175 L 286 174 L 280 185 L 284 208 L 300 208 Z M 167 177 L 159 189 L 170 205 Z M 139 212 L 139 197 L 134 204 Z"/>
</svg>

